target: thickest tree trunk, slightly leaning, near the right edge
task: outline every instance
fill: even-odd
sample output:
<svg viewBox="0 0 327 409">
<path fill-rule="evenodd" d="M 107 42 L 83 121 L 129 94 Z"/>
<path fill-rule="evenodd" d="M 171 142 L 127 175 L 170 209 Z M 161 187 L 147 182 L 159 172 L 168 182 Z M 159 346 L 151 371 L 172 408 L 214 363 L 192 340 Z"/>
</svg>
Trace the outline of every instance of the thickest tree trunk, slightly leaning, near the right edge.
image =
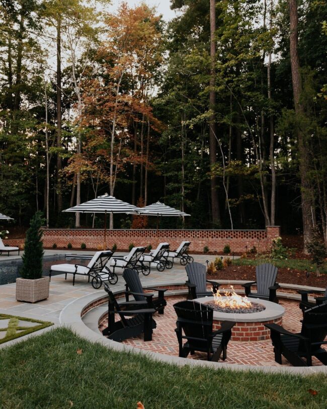
<svg viewBox="0 0 327 409">
<path fill-rule="evenodd" d="M 300 74 L 300 62 L 297 50 L 298 44 L 298 17 L 297 17 L 297 3 L 296 0 L 289 0 L 289 12 L 290 12 L 290 59 L 292 70 L 292 85 L 294 96 L 295 113 L 298 120 L 304 115 L 304 109 L 300 102 L 300 96 L 302 93 L 302 81 Z M 308 178 L 310 171 L 310 158 L 309 151 L 306 144 L 306 135 L 303 126 L 297 129 L 298 140 L 298 153 L 300 162 L 300 178 L 301 178 L 301 204 L 302 204 L 302 221 L 303 221 L 303 239 L 304 239 L 304 252 L 306 253 L 306 243 L 313 237 L 313 193 L 310 180 Z"/>
</svg>

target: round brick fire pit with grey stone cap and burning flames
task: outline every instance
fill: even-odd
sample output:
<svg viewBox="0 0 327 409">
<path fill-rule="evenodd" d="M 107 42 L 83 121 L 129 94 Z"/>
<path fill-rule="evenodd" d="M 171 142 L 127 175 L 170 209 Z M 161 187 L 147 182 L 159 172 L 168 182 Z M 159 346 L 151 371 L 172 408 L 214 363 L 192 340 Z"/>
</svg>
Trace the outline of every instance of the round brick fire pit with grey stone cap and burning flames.
<svg viewBox="0 0 327 409">
<path fill-rule="evenodd" d="M 225 292 L 226 294 L 226 292 Z M 219 330 L 221 321 L 234 321 L 232 341 L 263 341 L 270 339 L 267 323 L 282 324 L 284 307 L 259 298 L 240 297 L 232 291 L 228 295 L 197 298 L 194 301 L 213 308 L 213 330 Z M 237 298 L 236 298 L 237 297 Z M 247 304 L 237 306 L 237 304 Z"/>
</svg>

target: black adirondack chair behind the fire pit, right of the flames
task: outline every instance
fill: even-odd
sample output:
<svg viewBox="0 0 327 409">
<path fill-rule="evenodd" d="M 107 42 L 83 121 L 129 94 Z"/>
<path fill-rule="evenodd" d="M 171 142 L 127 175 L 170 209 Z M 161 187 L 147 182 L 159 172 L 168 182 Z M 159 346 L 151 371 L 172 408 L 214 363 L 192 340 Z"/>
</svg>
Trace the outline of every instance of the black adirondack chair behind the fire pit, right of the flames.
<svg viewBox="0 0 327 409">
<path fill-rule="evenodd" d="M 261 298 L 272 302 L 277 302 L 276 291 L 279 284 L 276 283 L 278 268 L 272 264 L 266 263 L 256 267 L 257 281 L 242 284 L 245 288 L 246 296 L 251 298 Z M 251 286 L 257 284 L 257 292 L 251 292 Z"/>
</svg>

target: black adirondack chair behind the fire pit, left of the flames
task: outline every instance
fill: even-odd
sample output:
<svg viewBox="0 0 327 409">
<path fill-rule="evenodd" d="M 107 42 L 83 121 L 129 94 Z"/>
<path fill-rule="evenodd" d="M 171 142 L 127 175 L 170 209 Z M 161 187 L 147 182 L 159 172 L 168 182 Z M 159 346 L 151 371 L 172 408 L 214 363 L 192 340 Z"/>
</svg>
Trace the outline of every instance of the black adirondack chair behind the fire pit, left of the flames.
<svg viewBox="0 0 327 409">
<path fill-rule="evenodd" d="M 206 296 L 212 296 L 212 293 L 216 293 L 220 284 L 215 281 L 207 280 L 206 267 L 201 263 L 190 263 L 185 267 L 188 281 L 189 293 L 188 300 L 194 300 L 195 298 L 201 298 Z M 207 291 L 207 283 L 212 285 L 212 291 Z"/>
</svg>

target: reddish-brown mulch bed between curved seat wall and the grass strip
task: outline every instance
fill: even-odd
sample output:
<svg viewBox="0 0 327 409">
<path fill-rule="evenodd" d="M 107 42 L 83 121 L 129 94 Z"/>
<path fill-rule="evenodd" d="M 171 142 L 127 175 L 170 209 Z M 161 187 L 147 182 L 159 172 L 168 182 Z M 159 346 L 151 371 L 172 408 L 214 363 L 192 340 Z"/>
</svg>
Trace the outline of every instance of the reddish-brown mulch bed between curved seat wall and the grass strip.
<svg viewBox="0 0 327 409">
<path fill-rule="evenodd" d="M 256 280 L 256 267 L 255 266 L 230 266 L 224 270 L 218 271 L 214 276 L 207 276 L 208 280 Z M 321 274 L 320 277 L 316 277 L 315 273 L 310 273 L 310 276 L 306 278 L 305 271 L 301 270 L 288 270 L 286 268 L 278 269 L 277 282 L 286 284 L 298 284 L 306 285 L 309 287 L 327 287 L 327 274 Z"/>
</svg>

